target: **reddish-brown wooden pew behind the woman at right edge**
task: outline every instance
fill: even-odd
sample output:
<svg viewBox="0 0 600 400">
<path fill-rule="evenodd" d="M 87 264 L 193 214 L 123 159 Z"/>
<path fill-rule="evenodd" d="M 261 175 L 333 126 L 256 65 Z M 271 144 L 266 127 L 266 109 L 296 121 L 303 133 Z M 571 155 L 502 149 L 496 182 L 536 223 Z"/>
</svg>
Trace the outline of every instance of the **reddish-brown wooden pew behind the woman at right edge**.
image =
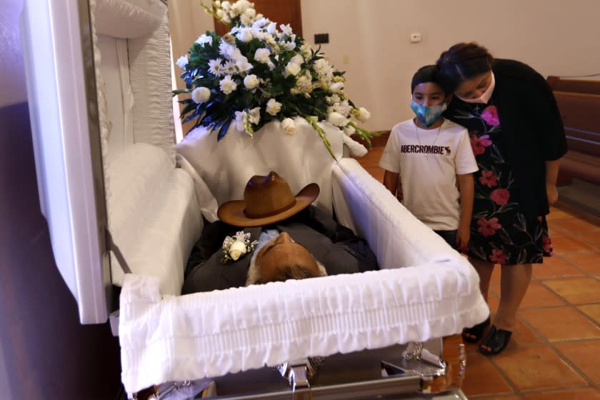
<svg viewBox="0 0 600 400">
<path fill-rule="evenodd" d="M 563 119 L 569 151 L 561 159 L 558 185 L 579 178 L 600 185 L 600 81 L 549 76 Z"/>
</svg>

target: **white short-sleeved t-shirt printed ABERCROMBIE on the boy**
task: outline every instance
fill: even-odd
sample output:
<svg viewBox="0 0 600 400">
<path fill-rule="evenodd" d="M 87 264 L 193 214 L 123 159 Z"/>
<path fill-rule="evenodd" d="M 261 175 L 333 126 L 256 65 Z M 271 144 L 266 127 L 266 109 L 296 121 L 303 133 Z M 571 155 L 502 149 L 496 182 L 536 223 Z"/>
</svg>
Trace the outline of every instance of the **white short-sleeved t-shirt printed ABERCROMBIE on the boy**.
<svg viewBox="0 0 600 400">
<path fill-rule="evenodd" d="M 436 231 L 458 229 L 456 175 L 478 169 L 464 126 L 447 119 L 439 130 L 418 128 L 412 119 L 401 122 L 391 129 L 379 166 L 400 174 L 402 204 L 416 218 Z"/>
</svg>

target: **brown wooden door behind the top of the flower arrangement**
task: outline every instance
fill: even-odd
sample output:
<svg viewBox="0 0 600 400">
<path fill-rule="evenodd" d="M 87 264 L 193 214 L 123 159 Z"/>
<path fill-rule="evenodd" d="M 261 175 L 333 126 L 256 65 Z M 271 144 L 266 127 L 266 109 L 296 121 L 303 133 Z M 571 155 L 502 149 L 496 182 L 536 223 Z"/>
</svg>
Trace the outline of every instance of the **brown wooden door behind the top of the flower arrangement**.
<svg viewBox="0 0 600 400">
<path fill-rule="evenodd" d="M 257 14 L 263 14 L 266 18 L 279 24 L 289 24 L 294 33 L 302 36 L 302 14 L 300 0 L 254 0 L 254 9 Z M 229 28 L 215 19 L 214 31 L 223 36 Z"/>
</svg>

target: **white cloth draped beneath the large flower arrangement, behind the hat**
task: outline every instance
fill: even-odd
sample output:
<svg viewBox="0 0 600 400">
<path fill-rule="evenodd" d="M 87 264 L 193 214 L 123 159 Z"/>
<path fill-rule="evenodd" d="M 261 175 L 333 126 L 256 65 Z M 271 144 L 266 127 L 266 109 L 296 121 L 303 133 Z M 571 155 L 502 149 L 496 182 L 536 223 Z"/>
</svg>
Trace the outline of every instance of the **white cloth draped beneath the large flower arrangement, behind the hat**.
<svg viewBox="0 0 600 400">
<path fill-rule="evenodd" d="M 194 166 L 219 204 L 244 199 L 251 176 L 276 171 L 286 179 L 293 194 L 307 184 L 318 184 L 321 193 L 314 205 L 332 214 L 331 167 L 336 160 L 308 122 L 294 121 L 294 134 L 286 134 L 281 123 L 275 121 L 256 131 L 254 137 L 230 126 L 221 141 L 217 141 L 216 131 L 195 129 L 177 144 L 177 153 Z M 344 134 L 331 124 L 320 125 L 336 159 L 340 159 Z"/>
</svg>

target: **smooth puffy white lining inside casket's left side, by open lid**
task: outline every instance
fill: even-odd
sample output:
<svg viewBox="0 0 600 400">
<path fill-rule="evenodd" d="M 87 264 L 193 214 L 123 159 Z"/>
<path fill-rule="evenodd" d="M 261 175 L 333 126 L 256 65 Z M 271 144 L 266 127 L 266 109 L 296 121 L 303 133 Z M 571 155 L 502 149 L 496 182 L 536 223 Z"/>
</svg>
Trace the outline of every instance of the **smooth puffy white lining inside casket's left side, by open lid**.
<svg viewBox="0 0 600 400">
<path fill-rule="evenodd" d="M 201 211 L 216 212 L 216 201 L 150 144 L 129 146 L 108 174 L 109 231 L 129 269 L 156 277 L 161 294 L 181 294 L 184 268 L 202 231 Z M 123 269 L 112 253 L 111 275 L 113 284 L 123 284 Z"/>
</svg>

